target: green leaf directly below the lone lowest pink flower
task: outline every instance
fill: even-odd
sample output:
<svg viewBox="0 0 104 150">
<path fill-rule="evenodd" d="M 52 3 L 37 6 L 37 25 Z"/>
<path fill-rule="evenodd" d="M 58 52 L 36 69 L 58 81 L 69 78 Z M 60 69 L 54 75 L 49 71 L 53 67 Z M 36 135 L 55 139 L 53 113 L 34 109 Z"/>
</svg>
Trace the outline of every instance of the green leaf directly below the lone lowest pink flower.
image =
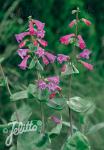
<svg viewBox="0 0 104 150">
<path fill-rule="evenodd" d="M 61 129 L 62 129 L 62 123 L 57 124 L 57 126 L 54 127 L 54 128 L 51 130 L 51 132 L 49 132 L 49 137 L 50 137 L 50 138 L 53 138 L 53 137 L 59 135 L 60 132 L 61 132 Z"/>
</svg>

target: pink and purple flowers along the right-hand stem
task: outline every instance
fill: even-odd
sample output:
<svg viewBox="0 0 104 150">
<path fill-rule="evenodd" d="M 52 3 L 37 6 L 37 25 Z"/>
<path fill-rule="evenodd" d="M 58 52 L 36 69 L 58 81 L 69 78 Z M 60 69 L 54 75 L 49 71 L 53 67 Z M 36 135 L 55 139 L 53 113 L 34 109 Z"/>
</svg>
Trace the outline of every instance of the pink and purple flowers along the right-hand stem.
<svg viewBox="0 0 104 150">
<path fill-rule="evenodd" d="M 83 21 L 87 26 L 91 25 L 91 22 L 85 18 L 82 18 L 81 20 L 74 19 L 70 24 L 69 27 L 72 28 L 74 25 L 77 25 L 79 21 Z M 81 59 L 89 59 L 89 56 L 91 54 L 91 51 L 89 49 L 86 49 L 86 44 L 83 40 L 83 37 L 81 35 L 75 35 L 74 33 L 62 36 L 60 38 L 60 42 L 64 45 L 68 45 L 70 43 L 74 43 L 76 46 L 78 46 L 82 52 L 76 56 L 78 62 L 80 62 L 85 68 L 88 70 L 93 70 L 93 65 L 81 60 Z M 62 67 L 62 72 L 65 71 L 65 65 Z"/>
</svg>

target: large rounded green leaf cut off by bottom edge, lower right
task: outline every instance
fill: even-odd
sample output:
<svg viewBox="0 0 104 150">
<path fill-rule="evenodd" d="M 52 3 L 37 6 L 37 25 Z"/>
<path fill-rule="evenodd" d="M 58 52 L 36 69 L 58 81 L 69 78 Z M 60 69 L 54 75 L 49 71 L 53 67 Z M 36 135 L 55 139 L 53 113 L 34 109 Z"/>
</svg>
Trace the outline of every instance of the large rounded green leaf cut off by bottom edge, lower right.
<svg viewBox="0 0 104 150">
<path fill-rule="evenodd" d="M 91 150 L 89 141 L 81 132 L 76 132 L 69 137 L 61 150 Z"/>
</svg>

